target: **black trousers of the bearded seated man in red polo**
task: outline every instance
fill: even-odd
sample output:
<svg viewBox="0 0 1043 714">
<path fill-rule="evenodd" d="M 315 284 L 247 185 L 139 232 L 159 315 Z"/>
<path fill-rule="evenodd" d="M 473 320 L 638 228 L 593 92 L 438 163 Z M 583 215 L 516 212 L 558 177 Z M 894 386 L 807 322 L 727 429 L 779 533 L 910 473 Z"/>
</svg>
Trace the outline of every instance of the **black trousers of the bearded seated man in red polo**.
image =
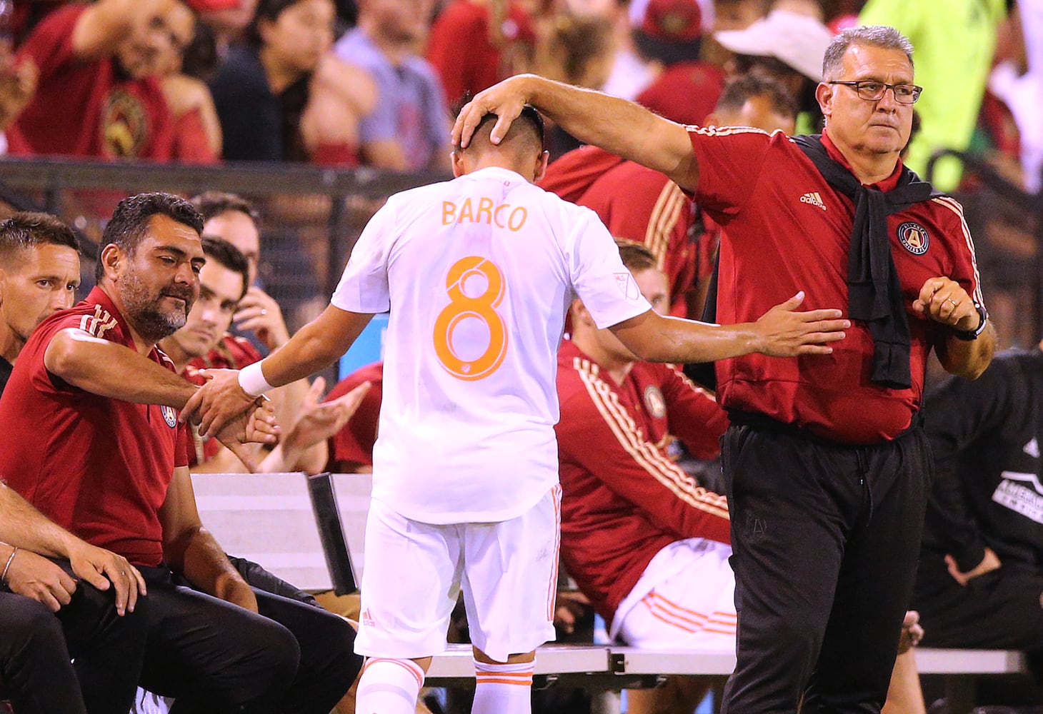
<svg viewBox="0 0 1043 714">
<path fill-rule="evenodd" d="M 359 671 L 355 631 L 318 607 L 253 587 L 260 613 L 251 613 L 165 568 L 141 570 L 149 599 L 142 686 L 174 697 L 172 714 L 329 714 Z M 295 591 L 278 578 L 265 584 L 282 588 L 273 582 Z"/>
</svg>

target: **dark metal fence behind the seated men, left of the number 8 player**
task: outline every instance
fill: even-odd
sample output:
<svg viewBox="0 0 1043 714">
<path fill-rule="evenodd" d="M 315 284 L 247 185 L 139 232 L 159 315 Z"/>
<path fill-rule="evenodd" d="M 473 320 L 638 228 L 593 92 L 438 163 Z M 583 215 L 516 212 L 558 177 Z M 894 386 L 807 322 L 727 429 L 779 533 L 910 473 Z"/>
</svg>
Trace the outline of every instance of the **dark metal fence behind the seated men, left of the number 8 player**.
<svg viewBox="0 0 1043 714">
<path fill-rule="evenodd" d="M 226 191 L 263 217 L 262 287 L 283 306 L 291 329 L 325 305 L 366 221 L 393 193 L 441 180 L 435 174 L 335 170 L 292 164 L 183 166 L 60 158 L 0 161 L 0 217 L 47 211 L 84 240 L 84 287 L 93 282 L 101 231 L 119 199 L 144 191 L 192 196 Z"/>
</svg>

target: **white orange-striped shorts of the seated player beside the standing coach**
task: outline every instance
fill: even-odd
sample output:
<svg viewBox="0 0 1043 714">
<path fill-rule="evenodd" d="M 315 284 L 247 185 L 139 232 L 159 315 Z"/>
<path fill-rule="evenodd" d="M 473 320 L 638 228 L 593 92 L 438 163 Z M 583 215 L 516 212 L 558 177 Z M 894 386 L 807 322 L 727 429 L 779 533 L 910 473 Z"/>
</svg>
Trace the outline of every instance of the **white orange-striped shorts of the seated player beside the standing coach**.
<svg viewBox="0 0 1043 714">
<path fill-rule="evenodd" d="M 645 568 L 612 618 L 610 635 L 632 647 L 735 651 L 731 547 L 702 538 L 676 541 Z"/>
</svg>

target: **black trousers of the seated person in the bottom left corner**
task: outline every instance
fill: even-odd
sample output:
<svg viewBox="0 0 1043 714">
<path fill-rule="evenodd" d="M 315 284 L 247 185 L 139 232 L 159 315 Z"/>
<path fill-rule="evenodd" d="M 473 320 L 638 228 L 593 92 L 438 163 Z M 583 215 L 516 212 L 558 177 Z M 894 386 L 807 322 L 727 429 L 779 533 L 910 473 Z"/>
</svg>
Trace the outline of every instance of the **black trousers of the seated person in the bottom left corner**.
<svg viewBox="0 0 1043 714">
<path fill-rule="evenodd" d="M 68 562 L 57 564 L 72 573 Z M 102 592 L 82 581 L 56 614 L 28 597 L 0 592 L 0 690 L 18 714 L 130 710 L 148 600 L 139 599 L 135 612 L 123 617 L 114 602 L 112 589 Z"/>
</svg>

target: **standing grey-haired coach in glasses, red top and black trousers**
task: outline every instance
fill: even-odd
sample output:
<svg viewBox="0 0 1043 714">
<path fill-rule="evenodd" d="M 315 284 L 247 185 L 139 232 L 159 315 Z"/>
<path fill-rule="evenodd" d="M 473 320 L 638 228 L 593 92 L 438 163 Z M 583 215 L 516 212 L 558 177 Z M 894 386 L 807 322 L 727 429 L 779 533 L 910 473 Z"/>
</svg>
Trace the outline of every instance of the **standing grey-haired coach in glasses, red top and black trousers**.
<svg viewBox="0 0 1043 714">
<path fill-rule="evenodd" d="M 930 453 L 917 411 L 931 348 L 976 377 L 995 334 L 960 204 L 907 171 L 920 95 L 890 27 L 839 34 L 820 137 L 684 127 L 531 75 L 479 94 L 499 141 L 523 102 L 581 141 L 662 171 L 724 226 L 718 317 L 750 319 L 798 286 L 852 320 L 831 354 L 718 364 L 738 612 L 731 714 L 876 712 L 908 605 Z M 461 136 L 462 134 L 462 136 Z M 466 144 L 466 141 L 464 141 Z"/>
</svg>

